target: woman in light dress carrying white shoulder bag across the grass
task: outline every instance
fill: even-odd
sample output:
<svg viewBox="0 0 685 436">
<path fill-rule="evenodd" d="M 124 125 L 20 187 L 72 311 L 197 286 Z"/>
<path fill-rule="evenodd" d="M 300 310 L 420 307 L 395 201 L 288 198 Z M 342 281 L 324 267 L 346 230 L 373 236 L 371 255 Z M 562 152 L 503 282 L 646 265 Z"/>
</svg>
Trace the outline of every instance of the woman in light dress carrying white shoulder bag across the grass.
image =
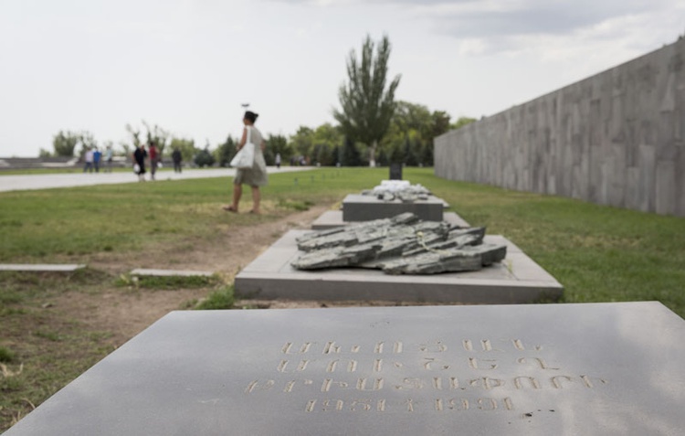
<svg viewBox="0 0 685 436">
<path fill-rule="evenodd" d="M 251 214 L 259 213 L 259 200 L 261 195 L 259 193 L 259 186 L 267 186 L 269 178 L 267 177 L 267 163 L 264 161 L 264 139 L 261 133 L 255 127 L 255 122 L 259 115 L 255 112 L 245 112 L 243 117 L 243 136 L 237 144 L 237 149 L 240 150 L 248 142 L 248 133 L 250 142 L 255 144 L 255 163 L 252 168 L 237 168 L 236 178 L 233 179 L 233 203 L 230 206 L 225 206 L 224 210 L 228 212 L 237 212 L 237 205 L 240 202 L 240 197 L 243 195 L 243 185 L 252 187 L 252 210 Z"/>
</svg>

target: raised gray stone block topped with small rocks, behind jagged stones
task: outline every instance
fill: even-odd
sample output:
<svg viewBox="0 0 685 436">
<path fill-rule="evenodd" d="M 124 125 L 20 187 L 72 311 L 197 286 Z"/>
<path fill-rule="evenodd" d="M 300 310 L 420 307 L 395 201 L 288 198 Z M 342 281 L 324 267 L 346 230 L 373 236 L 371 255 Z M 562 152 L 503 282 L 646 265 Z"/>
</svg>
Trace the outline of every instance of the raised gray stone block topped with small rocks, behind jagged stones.
<svg viewBox="0 0 685 436">
<path fill-rule="evenodd" d="M 342 220 L 371 221 L 411 212 L 425 221 L 442 221 L 444 205 L 445 202 L 437 197 L 403 203 L 400 200 L 383 201 L 374 196 L 350 194 L 342 200 Z"/>
</svg>

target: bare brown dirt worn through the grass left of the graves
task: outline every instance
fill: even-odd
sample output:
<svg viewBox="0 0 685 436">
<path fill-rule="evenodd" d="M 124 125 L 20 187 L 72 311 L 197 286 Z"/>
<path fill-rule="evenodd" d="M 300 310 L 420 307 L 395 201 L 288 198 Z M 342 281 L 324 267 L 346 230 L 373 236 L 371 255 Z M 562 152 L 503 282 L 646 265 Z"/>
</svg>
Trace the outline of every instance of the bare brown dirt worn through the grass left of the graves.
<svg viewBox="0 0 685 436">
<path fill-rule="evenodd" d="M 219 271 L 227 280 L 241 267 L 254 260 L 274 241 L 290 229 L 310 229 L 311 221 L 327 207 L 279 218 L 251 227 L 236 227 L 218 235 L 211 242 L 195 244 L 194 250 L 167 250 L 151 264 L 151 253 L 142 252 L 126 257 L 103 255 L 90 261 L 94 269 L 114 274 L 131 271 L 143 265 L 148 268 Z M 111 332 L 111 346 L 121 346 L 133 335 L 153 324 L 164 314 L 183 308 L 184 303 L 206 296 L 205 289 L 150 291 L 111 287 L 97 294 L 67 292 L 53 303 L 55 310 L 87 324 L 93 330 Z M 271 308 L 321 307 L 319 302 L 245 302 L 250 306 Z"/>
</svg>

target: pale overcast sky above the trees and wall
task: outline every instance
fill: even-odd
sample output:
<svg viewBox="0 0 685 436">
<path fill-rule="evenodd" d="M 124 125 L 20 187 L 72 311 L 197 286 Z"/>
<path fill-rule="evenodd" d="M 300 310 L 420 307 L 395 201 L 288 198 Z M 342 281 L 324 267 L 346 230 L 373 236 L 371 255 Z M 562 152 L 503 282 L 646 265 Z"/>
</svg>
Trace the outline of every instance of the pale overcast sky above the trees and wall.
<svg viewBox="0 0 685 436">
<path fill-rule="evenodd" d="M 0 157 L 126 123 L 216 146 L 333 122 L 345 61 L 386 34 L 399 100 L 479 118 L 674 42 L 685 0 L 0 0 Z"/>
</svg>

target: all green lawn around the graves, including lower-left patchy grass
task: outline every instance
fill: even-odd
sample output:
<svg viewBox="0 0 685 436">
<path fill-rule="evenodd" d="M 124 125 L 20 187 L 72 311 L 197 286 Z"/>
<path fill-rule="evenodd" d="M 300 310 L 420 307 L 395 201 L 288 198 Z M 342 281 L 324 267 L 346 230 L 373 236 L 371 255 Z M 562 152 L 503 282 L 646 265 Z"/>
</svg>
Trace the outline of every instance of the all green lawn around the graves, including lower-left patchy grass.
<svg viewBox="0 0 685 436">
<path fill-rule="evenodd" d="M 387 168 L 325 168 L 270 175 L 265 214 L 258 217 L 221 211 L 231 193 L 228 177 L 0 193 L 0 262 L 88 263 L 102 253 L 149 250 L 150 244 L 163 255 L 179 242 L 206 243 L 232 227 L 332 206 L 387 174 Z M 685 218 L 450 182 L 429 168 L 406 168 L 404 175 L 444 198 L 471 225 L 511 239 L 564 284 L 564 302 L 658 300 L 685 316 Z M 249 189 L 244 202 L 247 211 Z M 99 301 L 111 287 L 166 292 L 200 286 L 209 292 L 205 308 L 233 303 L 230 283 L 129 281 L 91 269 L 66 277 L 0 273 L 0 431 L 113 349 L 110 332 L 49 309 L 45 302 L 54 296 L 84 292 Z"/>
</svg>

